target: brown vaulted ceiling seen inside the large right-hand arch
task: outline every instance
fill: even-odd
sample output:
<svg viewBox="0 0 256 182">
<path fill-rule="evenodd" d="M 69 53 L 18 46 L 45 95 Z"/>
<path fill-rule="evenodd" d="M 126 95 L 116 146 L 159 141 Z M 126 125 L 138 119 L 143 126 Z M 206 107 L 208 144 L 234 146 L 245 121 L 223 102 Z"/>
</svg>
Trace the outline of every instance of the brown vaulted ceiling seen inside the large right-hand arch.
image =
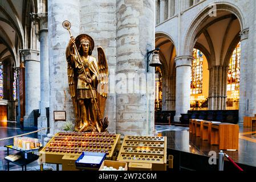
<svg viewBox="0 0 256 182">
<path fill-rule="evenodd" d="M 218 11 L 200 27 L 195 40 L 195 48 L 200 49 L 213 65 L 227 65 L 231 52 L 238 44 L 241 32 L 239 20 L 227 11 Z"/>
</svg>

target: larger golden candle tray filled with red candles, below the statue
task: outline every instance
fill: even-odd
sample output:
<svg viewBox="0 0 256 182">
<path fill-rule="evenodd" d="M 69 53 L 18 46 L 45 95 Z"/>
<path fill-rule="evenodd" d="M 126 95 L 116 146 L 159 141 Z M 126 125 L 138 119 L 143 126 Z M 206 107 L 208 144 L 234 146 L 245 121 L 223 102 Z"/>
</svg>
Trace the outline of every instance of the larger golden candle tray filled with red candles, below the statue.
<svg viewBox="0 0 256 182">
<path fill-rule="evenodd" d="M 119 144 L 120 134 L 62 132 L 55 134 L 39 153 L 42 163 L 62 164 L 65 170 L 70 162 L 75 168 L 75 160 L 83 151 L 105 153 L 111 160 Z"/>
</svg>

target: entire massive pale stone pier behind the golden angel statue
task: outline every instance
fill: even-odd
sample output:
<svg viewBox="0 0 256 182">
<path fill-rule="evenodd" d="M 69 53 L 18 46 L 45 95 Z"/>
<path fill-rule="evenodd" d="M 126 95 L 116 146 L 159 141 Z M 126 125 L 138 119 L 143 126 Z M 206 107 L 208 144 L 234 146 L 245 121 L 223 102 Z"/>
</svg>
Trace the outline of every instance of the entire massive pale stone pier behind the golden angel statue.
<svg viewBox="0 0 256 182">
<path fill-rule="evenodd" d="M 66 123 L 54 122 L 54 110 L 65 110 L 67 121 L 74 121 L 65 57 L 70 38 L 62 27 L 66 19 L 72 24 L 74 36 L 92 36 L 95 41 L 93 56 L 97 57 L 97 46 L 103 47 L 107 56 L 109 94 L 105 116 L 109 118 L 108 130 L 122 135 L 153 135 L 155 73 L 151 68 L 152 74 L 147 77 L 145 68 L 147 49 L 155 48 L 155 1 L 48 2 L 51 133 L 62 130 Z M 148 82 L 148 88 L 143 88 L 145 93 L 116 93 L 119 73 L 125 76 L 128 73 L 144 74 L 145 82 Z"/>
</svg>

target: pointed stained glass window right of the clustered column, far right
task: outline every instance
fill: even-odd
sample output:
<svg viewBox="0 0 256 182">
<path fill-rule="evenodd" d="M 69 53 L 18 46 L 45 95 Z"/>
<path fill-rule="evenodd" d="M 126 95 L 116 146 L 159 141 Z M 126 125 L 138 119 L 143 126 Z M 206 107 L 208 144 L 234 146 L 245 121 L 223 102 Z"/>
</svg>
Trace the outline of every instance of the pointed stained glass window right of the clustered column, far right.
<svg viewBox="0 0 256 182">
<path fill-rule="evenodd" d="M 241 61 L 241 43 L 237 44 L 229 61 L 227 70 L 227 91 L 239 91 L 240 84 L 240 61 Z"/>
</svg>

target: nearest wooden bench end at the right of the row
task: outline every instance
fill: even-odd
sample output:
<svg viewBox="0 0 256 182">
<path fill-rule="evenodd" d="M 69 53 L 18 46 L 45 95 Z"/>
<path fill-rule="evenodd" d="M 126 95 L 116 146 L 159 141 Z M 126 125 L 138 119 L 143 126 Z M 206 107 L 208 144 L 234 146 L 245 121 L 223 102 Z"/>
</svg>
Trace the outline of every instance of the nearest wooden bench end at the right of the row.
<svg viewBox="0 0 256 182">
<path fill-rule="evenodd" d="M 239 126 L 231 123 L 212 123 L 210 144 L 218 144 L 219 150 L 238 150 Z"/>
</svg>

